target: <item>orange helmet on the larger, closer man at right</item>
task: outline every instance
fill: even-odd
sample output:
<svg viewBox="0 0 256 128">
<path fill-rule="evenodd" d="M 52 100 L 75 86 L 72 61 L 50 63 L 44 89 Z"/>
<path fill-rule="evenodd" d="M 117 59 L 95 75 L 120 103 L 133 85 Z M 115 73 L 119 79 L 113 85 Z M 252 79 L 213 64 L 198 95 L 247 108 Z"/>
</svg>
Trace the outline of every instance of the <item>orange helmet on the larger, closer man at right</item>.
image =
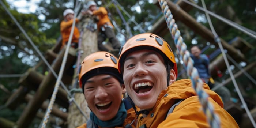
<svg viewBox="0 0 256 128">
<path fill-rule="evenodd" d="M 167 57 L 174 64 L 173 69 L 175 71 L 177 78 L 177 64 L 175 62 L 175 57 L 172 52 L 172 49 L 163 38 L 152 33 L 143 33 L 135 35 L 124 44 L 124 46 L 121 48 L 119 52 L 118 71 L 120 73 L 121 67 L 123 66 L 121 64 L 124 64 L 125 57 L 129 53 L 141 49 L 155 50 L 156 52 L 161 54 L 164 59 Z"/>
</svg>

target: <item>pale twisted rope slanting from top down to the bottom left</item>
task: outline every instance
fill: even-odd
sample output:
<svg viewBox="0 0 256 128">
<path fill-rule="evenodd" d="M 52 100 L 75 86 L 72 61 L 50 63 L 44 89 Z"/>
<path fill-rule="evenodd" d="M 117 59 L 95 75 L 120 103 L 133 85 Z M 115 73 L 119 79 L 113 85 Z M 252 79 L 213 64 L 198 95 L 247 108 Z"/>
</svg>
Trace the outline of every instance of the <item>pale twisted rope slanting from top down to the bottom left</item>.
<svg viewBox="0 0 256 128">
<path fill-rule="evenodd" d="M 78 1 L 77 1 L 78 2 Z M 72 23 L 72 29 L 71 29 L 71 32 L 70 32 L 70 35 L 69 35 L 69 38 L 68 38 L 68 44 L 67 44 L 67 47 L 65 49 L 65 53 L 64 53 L 64 57 L 63 57 L 63 61 L 61 63 L 61 67 L 60 67 L 60 72 L 59 72 L 59 75 L 58 75 L 58 78 L 57 78 L 57 81 L 56 81 L 56 84 L 54 86 L 54 90 L 53 90 L 53 93 L 52 93 L 52 97 L 50 99 L 50 103 L 48 105 L 48 108 L 46 110 L 46 113 L 45 113 L 45 116 L 44 116 L 44 120 L 43 120 L 43 123 L 42 123 L 42 127 L 41 128 L 46 128 L 46 124 L 48 122 L 48 119 L 49 119 L 49 116 L 50 116 L 50 113 L 52 112 L 52 107 L 53 107 L 53 103 L 55 101 L 55 98 L 56 98 L 56 95 L 57 95 L 57 92 L 59 90 L 59 86 L 60 86 L 60 81 L 61 81 L 61 78 L 63 76 L 63 72 L 64 72 L 64 69 L 65 69 L 65 64 L 67 62 L 67 57 L 68 57 L 68 50 L 70 48 L 70 44 L 71 44 L 71 41 L 72 41 L 72 35 L 74 34 L 74 28 L 75 28 L 75 18 L 76 18 L 76 14 L 77 14 L 77 11 L 79 10 L 81 6 L 81 2 L 78 4 L 78 7 L 75 8 L 75 15 L 74 15 L 74 19 L 73 19 L 73 23 Z"/>
</svg>

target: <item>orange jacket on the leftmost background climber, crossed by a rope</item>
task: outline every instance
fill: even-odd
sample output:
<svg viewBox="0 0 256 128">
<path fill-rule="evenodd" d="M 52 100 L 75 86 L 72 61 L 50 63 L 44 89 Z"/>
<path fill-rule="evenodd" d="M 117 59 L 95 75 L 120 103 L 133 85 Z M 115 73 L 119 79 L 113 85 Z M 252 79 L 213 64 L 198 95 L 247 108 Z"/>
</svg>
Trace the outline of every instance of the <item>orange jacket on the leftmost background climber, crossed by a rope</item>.
<svg viewBox="0 0 256 128">
<path fill-rule="evenodd" d="M 76 23 L 77 23 L 77 22 L 79 22 L 78 19 L 76 19 Z M 66 42 L 68 42 L 68 38 L 69 38 L 71 29 L 72 29 L 72 23 L 73 23 L 73 20 L 69 20 L 69 21 L 64 21 L 64 20 L 63 20 L 63 21 L 60 23 L 60 33 L 61 33 L 61 36 L 62 36 L 62 47 L 65 45 Z M 72 41 L 71 41 L 71 42 L 76 42 L 76 43 L 78 43 L 79 36 L 80 36 L 79 30 L 78 30 L 78 28 L 75 26 L 75 28 L 74 28 L 74 34 L 73 34 L 73 38 L 72 38 Z"/>
</svg>

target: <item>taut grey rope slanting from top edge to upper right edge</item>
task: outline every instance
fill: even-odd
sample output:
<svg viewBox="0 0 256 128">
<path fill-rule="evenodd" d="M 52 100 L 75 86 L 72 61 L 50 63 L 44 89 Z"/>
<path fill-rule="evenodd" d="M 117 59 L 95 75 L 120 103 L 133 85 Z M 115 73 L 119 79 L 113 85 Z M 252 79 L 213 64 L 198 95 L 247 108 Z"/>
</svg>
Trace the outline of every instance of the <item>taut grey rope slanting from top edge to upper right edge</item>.
<svg viewBox="0 0 256 128">
<path fill-rule="evenodd" d="M 255 31 L 252 31 L 252 30 L 250 30 L 250 29 L 247 29 L 246 27 L 243 27 L 243 26 L 241 26 L 241 25 L 238 25 L 237 23 L 235 23 L 235 22 L 233 22 L 233 21 L 231 21 L 231 20 L 228 20 L 228 19 L 226 19 L 226 18 L 223 18 L 222 16 L 219 16 L 219 15 L 217 15 L 217 14 L 215 14 L 215 13 L 213 13 L 213 12 L 210 12 L 210 11 L 208 11 L 208 10 L 202 8 L 202 7 L 199 7 L 198 5 L 193 4 L 193 3 L 191 3 L 191 2 L 189 2 L 189 1 L 187 1 L 187 0 L 182 0 L 182 1 L 184 1 L 184 2 L 186 2 L 186 3 L 188 3 L 188 4 L 190 4 L 190 5 L 192 5 L 193 7 L 198 8 L 199 10 L 202 10 L 202 11 L 204 11 L 204 12 L 207 12 L 207 13 L 210 14 L 211 16 L 214 16 L 215 18 L 217 18 L 217 19 L 219 19 L 219 20 L 221 20 L 221 21 L 227 23 L 228 25 L 230 25 L 230 26 L 232 26 L 232 27 L 234 27 L 234 28 L 236 28 L 236 29 L 238 29 L 238 30 L 244 32 L 245 34 L 251 36 L 252 38 L 256 39 L 256 32 L 255 32 Z"/>
</svg>

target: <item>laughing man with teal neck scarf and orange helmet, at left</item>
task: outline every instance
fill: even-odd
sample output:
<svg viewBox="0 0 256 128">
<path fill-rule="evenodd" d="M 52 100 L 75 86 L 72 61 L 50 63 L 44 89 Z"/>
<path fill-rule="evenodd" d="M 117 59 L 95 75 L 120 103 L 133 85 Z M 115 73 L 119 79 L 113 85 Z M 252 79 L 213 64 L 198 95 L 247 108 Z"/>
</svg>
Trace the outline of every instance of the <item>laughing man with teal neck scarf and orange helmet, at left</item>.
<svg viewBox="0 0 256 128">
<path fill-rule="evenodd" d="M 136 113 L 127 105 L 117 58 L 105 51 L 85 57 L 79 67 L 79 86 L 90 108 L 90 120 L 78 128 L 135 128 Z"/>
</svg>

